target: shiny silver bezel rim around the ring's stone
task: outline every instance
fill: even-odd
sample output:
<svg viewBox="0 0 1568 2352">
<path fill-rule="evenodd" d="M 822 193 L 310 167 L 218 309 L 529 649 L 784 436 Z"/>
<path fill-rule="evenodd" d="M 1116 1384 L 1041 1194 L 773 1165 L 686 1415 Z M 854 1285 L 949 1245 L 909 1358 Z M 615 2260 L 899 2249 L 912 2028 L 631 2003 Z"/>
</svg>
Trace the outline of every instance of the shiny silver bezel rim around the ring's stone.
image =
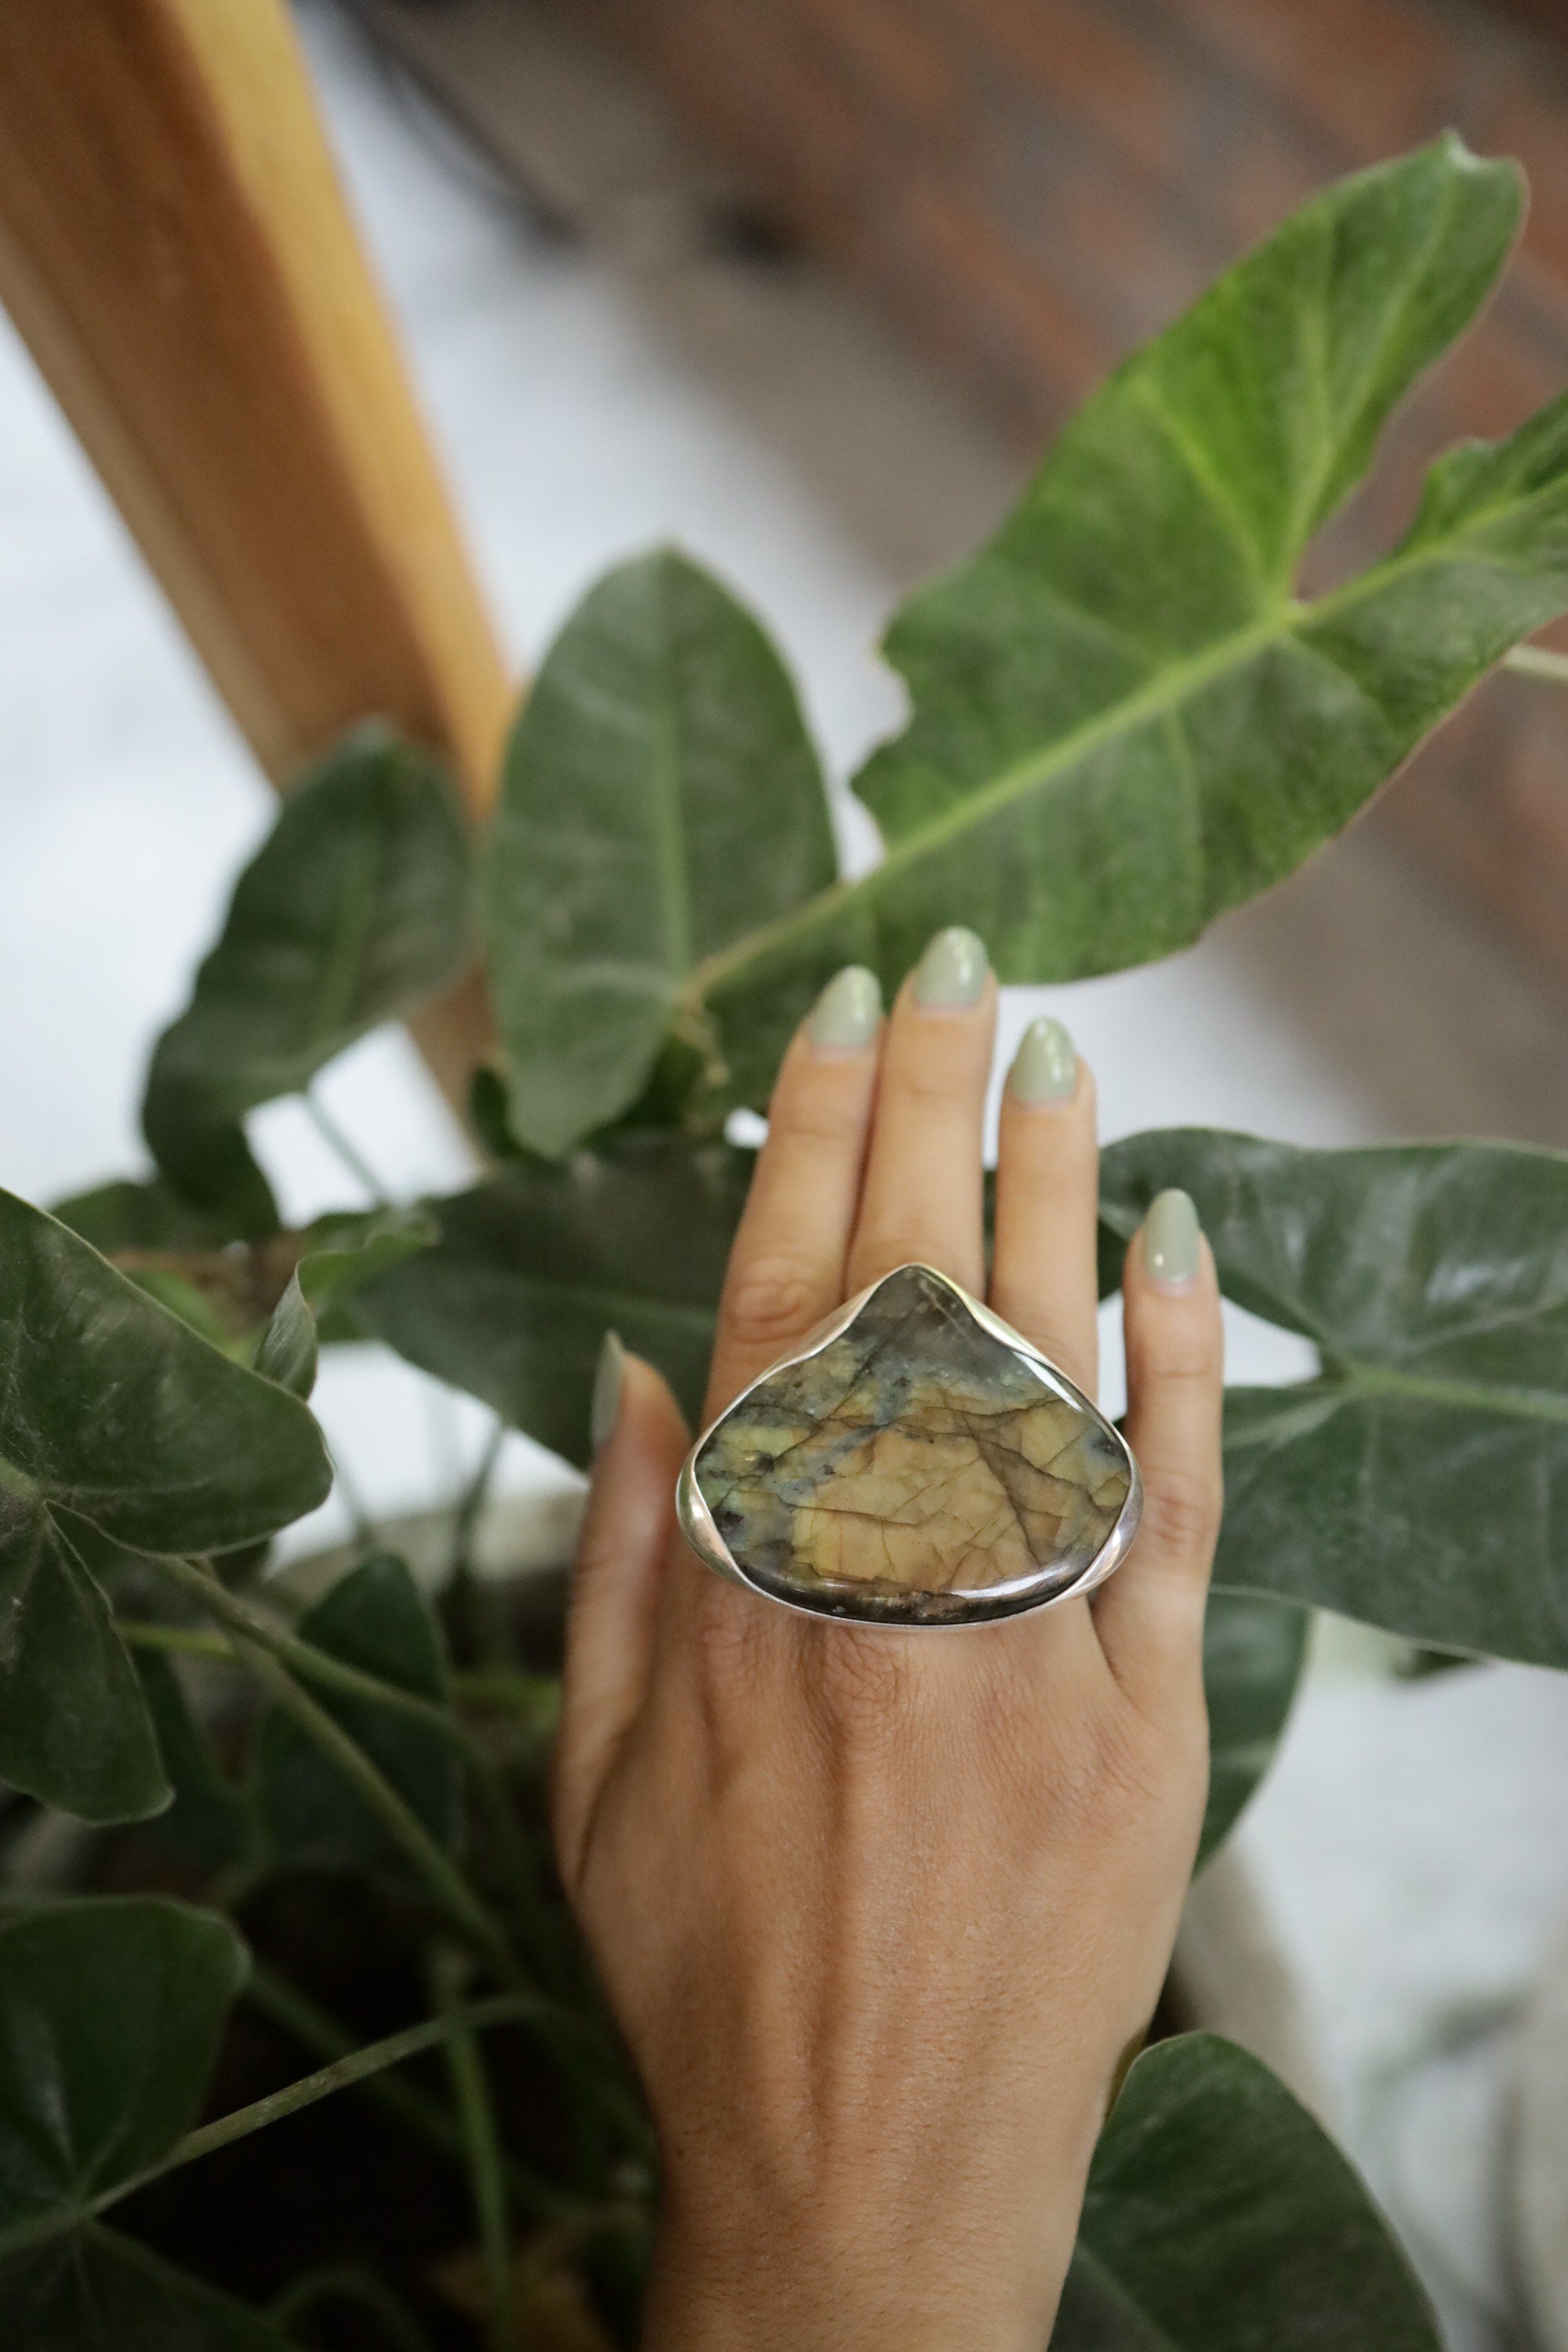
<svg viewBox="0 0 1568 2352">
<path fill-rule="evenodd" d="M 886 1604 L 882 1609 L 865 1609 L 865 1606 L 856 1609 L 853 1590 L 849 1585 L 823 1585 L 823 1597 L 813 1599 L 804 1590 L 778 1592 L 771 1583 L 762 1583 L 759 1578 L 748 1576 L 748 1571 L 741 1566 L 741 1562 L 731 1555 L 729 1545 L 724 1543 L 724 1536 L 715 1524 L 712 1510 L 708 1508 L 708 1498 L 696 1482 L 696 1463 L 703 1446 L 708 1444 L 712 1432 L 722 1428 L 724 1421 L 729 1421 L 736 1406 L 745 1404 L 745 1399 L 757 1388 L 762 1388 L 764 1381 L 771 1381 L 776 1374 L 788 1371 L 792 1364 L 806 1364 L 811 1362 L 813 1355 L 820 1355 L 823 1348 L 830 1348 L 832 1341 L 839 1338 L 839 1334 L 851 1327 L 860 1308 L 867 1303 L 867 1298 L 872 1298 L 882 1289 L 884 1282 L 893 1282 L 896 1275 L 907 1275 L 907 1272 L 929 1275 L 931 1282 L 938 1282 L 945 1291 L 950 1291 L 954 1298 L 961 1301 L 961 1305 L 969 1310 L 969 1315 L 983 1331 L 987 1331 L 1013 1355 L 1023 1357 L 1030 1364 L 1030 1369 L 1046 1383 L 1046 1388 L 1056 1390 L 1056 1395 L 1063 1397 L 1067 1404 L 1074 1404 L 1081 1414 L 1088 1414 L 1093 1421 L 1098 1421 L 1098 1425 L 1107 1432 L 1107 1437 L 1121 1454 L 1128 1472 L 1126 1501 L 1117 1515 L 1117 1524 L 1112 1526 L 1110 1536 L 1084 1569 L 1079 1569 L 1072 1576 L 1065 1576 L 1060 1585 L 1025 1588 L 1020 1581 L 1013 1585 L 999 1585 L 994 1597 L 971 1595 L 964 1604 L 964 1613 L 952 1616 L 950 1621 L 896 1616 Z M 809 1331 L 806 1338 L 799 1343 L 799 1348 L 790 1348 L 785 1355 L 776 1357 L 764 1371 L 757 1374 L 755 1381 L 750 1381 L 741 1390 L 738 1397 L 731 1397 L 724 1411 L 708 1423 L 698 1442 L 686 1454 L 675 1489 L 675 1510 L 686 1543 L 691 1545 L 696 1557 L 715 1571 L 715 1576 L 724 1576 L 729 1583 L 743 1585 L 748 1592 L 757 1592 L 759 1599 L 773 1602 L 778 1609 L 795 1609 L 799 1616 L 832 1618 L 846 1625 L 877 1625 L 886 1632 L 966 1632 L 973 1625 L 994 1625 L 1004 1618 L 1025 1616 L 1034 1609 L 1053 1609 L 1058 1602 L 1074 1599 L 1077 1595 L 1093 1592 L 1095 1585 L 1103 1585 L 1105 1578 L 1121 1566 L 1121 1562 L 1131 1550 L 1133 1536 L 1138 1534 L 1138 1522 L 1143 1519 L 1143 1475 L 1138 1470 L 1133 1449 L 1128 1446 L 1117 1423 L 1100 1411 L 1093 1397 L 1084 1395 L 1077 1381 L 1067 1378 L 1060 1364 L 1053 1364 L 1048 1355 L 1044 1355 L 1032 1341 L 1023 1336 L 1023 1331 L 1013 1331 L 1013 1327 L 1004 1322 L 1001 1315 L 994 1315 L 978 1298 L 971 1298 L 961 1282 L 954 1282 L 950 1275 L 943 1275 L 936 1265 L 922 1265 L 917 1258 L 910 1258 L 905 1265 L 896 1265 L 886 1275 L 879 1275 L 877 1282 L 867 1282 L 863 1291 L 856 1291 L 853 1298 L 846 1298 L 842 1308 L 837 1308 L 832 1315 L 827 1315 L 825 1322 L 820 1322 L 813 1331 Z"/>
</svg>

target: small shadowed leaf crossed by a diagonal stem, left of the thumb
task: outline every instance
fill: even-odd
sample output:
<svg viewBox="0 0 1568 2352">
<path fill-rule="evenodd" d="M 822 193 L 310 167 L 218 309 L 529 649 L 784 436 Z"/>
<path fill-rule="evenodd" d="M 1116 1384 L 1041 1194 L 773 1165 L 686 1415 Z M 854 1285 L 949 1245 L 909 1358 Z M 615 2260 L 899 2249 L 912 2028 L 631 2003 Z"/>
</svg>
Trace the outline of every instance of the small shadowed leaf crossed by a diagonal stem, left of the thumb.
<svg viewBox="0 0 1568 2352">
<path fill-rule="evenodd" d="M 296 1628 L 303 1642 L 421 1698 L 447 1696 L 442 1642 L 402 1559 L 378 1552 L 343 1576 Z M 461 1832 L 461 1766 L 451 1740 L 371 1700 L 315 1691 L 409 1809 L 444 1846 Z M 292 1717 L 270 1710 L 256 1743 L 254 1790 L 275 1860 L 313 1870 L 402 1875 L 402 1849 L 334 1773 Z"/>
</svg>

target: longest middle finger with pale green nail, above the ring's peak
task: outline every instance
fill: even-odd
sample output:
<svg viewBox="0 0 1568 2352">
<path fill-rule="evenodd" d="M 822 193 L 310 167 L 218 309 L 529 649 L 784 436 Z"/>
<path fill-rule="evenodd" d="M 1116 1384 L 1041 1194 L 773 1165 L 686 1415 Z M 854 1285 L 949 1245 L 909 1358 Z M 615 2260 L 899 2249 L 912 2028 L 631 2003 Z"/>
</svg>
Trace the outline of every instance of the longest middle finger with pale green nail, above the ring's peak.
<svg viewBox="0 0 1568 2352">
<path fill-rule="evenodd" d="M 849 1247 L 849 1291 L 907 1261 L 985 1282 L 980 1120 L 997 983 L 973 931 L 938 931 L 898 993 Z"/>
</svg>

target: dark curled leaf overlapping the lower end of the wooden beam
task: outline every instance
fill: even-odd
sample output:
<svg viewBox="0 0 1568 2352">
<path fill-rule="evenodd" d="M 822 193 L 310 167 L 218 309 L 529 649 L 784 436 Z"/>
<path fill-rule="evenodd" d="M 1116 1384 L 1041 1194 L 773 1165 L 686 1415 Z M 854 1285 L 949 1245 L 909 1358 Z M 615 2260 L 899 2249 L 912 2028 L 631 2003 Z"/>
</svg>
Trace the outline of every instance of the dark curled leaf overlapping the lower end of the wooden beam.
<svg viewBox="0 0 1568 2352">
<path fill-rule="evenodd" d="M 343 736 L 284 800 L 153 1054 L 141 1124 L 169 1183 L 244 1237 L 273 1232 L 244 1112 L 454 981 L 473 950 L 470 894 L 437 762 L 381 724 Z"/>
</svg>

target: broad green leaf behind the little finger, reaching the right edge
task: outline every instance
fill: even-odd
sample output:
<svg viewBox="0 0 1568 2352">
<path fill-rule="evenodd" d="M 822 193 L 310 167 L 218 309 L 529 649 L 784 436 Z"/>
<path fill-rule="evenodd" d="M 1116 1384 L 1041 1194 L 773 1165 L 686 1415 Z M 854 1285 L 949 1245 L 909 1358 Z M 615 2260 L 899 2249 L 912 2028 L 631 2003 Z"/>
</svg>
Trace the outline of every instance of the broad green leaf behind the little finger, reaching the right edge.
<svg viewBox="0 0 1568 2352">
<path fill-rule="evenodd" d="M 1568 1157 L 1168 1129 L 1105 1152 L 1105 1225 L 1164 1185 L 1227 1296 L 1321 1357 L 1227 1392 L 1218 1581 L 1568 1665 Z"/>
</svg>

